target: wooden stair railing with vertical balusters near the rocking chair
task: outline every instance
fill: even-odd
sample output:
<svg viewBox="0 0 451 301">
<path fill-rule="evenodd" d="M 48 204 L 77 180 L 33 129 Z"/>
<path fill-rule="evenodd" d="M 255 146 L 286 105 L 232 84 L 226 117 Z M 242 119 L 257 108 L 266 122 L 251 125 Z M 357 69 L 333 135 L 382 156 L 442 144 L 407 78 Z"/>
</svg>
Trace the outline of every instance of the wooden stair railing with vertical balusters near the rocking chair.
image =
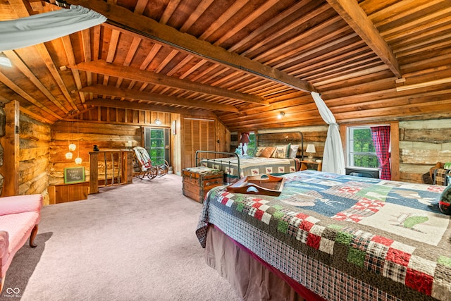
<svg viewBox="0 0 451 301">
<path fill-rule="evenodd" d="M 132 150 L 89 152 L 89 194 L 99 192 L 99 187 L 132 183 L 132 176 Z"/>
</svg>

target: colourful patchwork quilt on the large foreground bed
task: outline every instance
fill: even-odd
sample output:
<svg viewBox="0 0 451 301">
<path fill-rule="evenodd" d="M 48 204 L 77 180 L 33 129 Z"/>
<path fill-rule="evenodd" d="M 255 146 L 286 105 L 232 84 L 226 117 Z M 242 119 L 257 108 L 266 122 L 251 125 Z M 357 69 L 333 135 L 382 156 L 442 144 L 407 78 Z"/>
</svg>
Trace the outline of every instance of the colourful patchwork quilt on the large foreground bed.
<svg viewBox="0 0 451 301">
<path fill-rule="evenodd" d="M 279 197 L 207 195 L 197 237 L 212 223 L 326 300 L 451 300 L 445 186 L 299 171 Z"/>
</svg>

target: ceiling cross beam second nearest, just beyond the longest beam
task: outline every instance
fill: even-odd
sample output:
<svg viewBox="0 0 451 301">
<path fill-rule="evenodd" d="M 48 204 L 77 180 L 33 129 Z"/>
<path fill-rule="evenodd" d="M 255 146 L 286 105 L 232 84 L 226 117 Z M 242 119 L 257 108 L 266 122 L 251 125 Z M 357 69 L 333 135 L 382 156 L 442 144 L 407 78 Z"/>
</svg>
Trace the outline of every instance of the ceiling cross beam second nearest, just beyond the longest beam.
<svg viewBox="0 0 451 301">
<path fill-rule="evenodd" d="M 180 80 L 178 78 L 154 73 L 148 70 L 140 70 L 137 68 L 118 65 L 114 63 L 106 63 L 106 61 L 102 60 L 78 63 L 75 66 L 69 67 L 78 70 L 89 71 L 92 73 L 116 76 L 117 78 L 127 78 L 129 80 L 137 80 L 140 82 L 152 83 L 154 85 L 163 85 L 182 90 L 189 90 L 204 94 L 238 99 L 242 102 L 252 102 L 255 104 L 269 105 L 269 103 L 263 97 L 259 97 L 257 95 L 235 92 L 233 90 L 227 90 L 220 87 L 212 87 L 210 85 L 200 84 L 198 82 L 187 82 L 186 80 Z"/>
</svg>

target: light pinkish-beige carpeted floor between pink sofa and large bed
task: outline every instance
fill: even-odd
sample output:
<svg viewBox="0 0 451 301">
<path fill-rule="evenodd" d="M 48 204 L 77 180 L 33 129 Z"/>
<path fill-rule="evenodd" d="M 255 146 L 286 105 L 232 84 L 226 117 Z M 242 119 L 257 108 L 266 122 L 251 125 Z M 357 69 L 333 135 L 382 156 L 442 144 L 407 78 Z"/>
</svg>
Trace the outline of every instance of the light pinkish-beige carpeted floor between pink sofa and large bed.
<svg viewBox="0 0 451 301">
<path fill-rule="evenodd" d="M 0 300 L 238 300 L 204 262 L 202 204 L 180 176 L 133 182 L 44 207 L 38 246 L 16 254 Z"/>
</svg>

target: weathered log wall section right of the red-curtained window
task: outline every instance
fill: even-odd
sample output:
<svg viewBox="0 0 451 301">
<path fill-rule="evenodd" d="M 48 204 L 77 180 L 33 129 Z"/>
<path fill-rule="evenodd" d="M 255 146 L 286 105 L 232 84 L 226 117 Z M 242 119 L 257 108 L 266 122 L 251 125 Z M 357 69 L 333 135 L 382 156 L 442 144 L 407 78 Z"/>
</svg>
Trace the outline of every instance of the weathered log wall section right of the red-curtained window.
<svg viewBox="0 0 451 301">
<path fill-rule="evenodd" d="M 400 180 L 422 183 L 437 162 L 451 162 L 451 119 L 400 121 Z"/>
</svg>

